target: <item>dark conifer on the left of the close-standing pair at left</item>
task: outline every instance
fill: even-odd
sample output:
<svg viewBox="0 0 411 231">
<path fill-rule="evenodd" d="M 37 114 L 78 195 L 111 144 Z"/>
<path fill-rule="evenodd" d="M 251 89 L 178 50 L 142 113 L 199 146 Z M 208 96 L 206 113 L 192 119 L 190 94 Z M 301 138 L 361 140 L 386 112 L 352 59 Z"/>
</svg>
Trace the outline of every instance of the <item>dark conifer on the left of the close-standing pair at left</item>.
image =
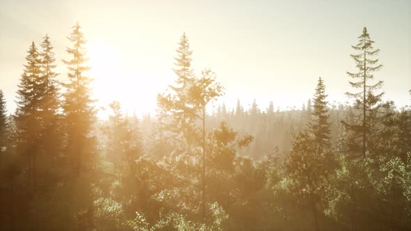
<svg viewBox="0 0 411 231">
<path fill-rule="evenodd" d="M 41 81 L 41 60 L 34 42 L 31 43 L 27 64 L 20 78 L 17 90 L 17 109 L 15 119 L 18 129 L 18 147 L 22 154 L 29 158 L 29 174 L 33 188 L 36 186 L 36 155 L 41 139 L 42 120 L 40 102 L 44 96 L 44 85 Z"/>
</svg>

